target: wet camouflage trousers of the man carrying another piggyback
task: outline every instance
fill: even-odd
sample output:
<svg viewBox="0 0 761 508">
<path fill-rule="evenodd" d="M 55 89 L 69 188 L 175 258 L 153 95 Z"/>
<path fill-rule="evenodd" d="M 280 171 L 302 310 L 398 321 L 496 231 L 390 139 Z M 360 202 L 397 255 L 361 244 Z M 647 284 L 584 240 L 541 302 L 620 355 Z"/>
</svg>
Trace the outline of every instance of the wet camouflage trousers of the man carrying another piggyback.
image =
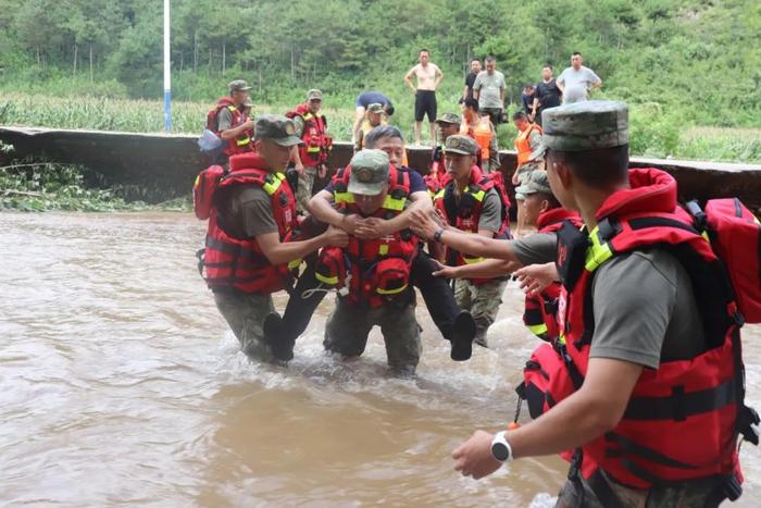
<svg viewBox="0 0 761 508">
<path fill-rule="evenodd" d="M 386 343 L 388 367 L 398 374 L 414 374 L 423 345 L 415 319 L 414 294 L 402 298 L 403 302 L 389 301 L 375 309 L 338 298 L 325 325 L 325 349 L 344 357 L 359 357 L 367 345 L 370 331 L 377 325 Z"/>
</svg>

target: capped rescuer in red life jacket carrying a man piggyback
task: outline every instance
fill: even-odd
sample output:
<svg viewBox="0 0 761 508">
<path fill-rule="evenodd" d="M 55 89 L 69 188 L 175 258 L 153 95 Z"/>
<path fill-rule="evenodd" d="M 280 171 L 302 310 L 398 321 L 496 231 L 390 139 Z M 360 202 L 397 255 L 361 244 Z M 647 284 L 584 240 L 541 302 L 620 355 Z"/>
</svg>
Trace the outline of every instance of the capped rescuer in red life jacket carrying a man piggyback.
<svg viewBox="0 0 761 508">
<path fill-rule="evenodd" d="M 407 206 L 409 174 L 391 165 L 382 150 L 357 152 L 335 183 L 338 209 L 360 218 L 398 215 Z M 376 239 L 351 235 L 346 248 L 323 249 L 317 278 L 344 288 L 325 325 L 326 350 L 358 357 L 371 329 L 378 325 L 388 365 L 398 374 L 414 374 L 422 351 L 410 285 L 416 253 L 417 239 L 409 230 Z"/>
</svg>

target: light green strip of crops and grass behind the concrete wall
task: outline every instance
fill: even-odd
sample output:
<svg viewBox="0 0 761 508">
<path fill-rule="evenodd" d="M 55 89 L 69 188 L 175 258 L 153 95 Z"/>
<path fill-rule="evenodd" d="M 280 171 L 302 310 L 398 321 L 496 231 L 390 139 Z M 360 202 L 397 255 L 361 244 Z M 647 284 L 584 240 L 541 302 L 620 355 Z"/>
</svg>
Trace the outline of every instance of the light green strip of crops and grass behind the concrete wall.
<svg viewBox="0 0 761 508">
<path fill-rule="evenodd" d="M 402 97 L 394 122 L 412 137 L 412 97 Z M 440 109 L 456 107 L 456 97 L 442 97 Z M 325 114 L 336 139 L 349 139 L 353 122 L 351 97 L 326 96 Z M 451 108 L 447 108 L 451 104 Z M 173 129 L 199 134 L 210 103 L 174 102 Z M 677 113 L 663 113 L 658 104 L 631 106 L 632 154 L 704 161 L 761 163 L 761 129 L 689 125 Z M 283 113 L 287 106 L 257 104 L 254 114 Z M 163 128 L 163 104 L 155 100 L 103 97 L 46 97 L 24 94 L 0 96 L 0 125 L 45 126 L 158 133 Z M 425 131 L 425 129 L 424 129 Z M 500 147 L 512 147 L 515 128 L 499 127 Z"/>
</svg>

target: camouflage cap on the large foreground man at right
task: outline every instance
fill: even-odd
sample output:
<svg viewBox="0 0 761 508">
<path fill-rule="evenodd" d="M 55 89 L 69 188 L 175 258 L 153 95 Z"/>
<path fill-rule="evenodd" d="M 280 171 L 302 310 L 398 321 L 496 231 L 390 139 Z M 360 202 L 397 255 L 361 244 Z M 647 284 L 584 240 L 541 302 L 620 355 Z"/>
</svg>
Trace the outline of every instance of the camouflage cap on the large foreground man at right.
<svg viewBox="0 0 761 508">
<path fill-rule="evenodd" d="M 547 151 L 584 151 L 628 143 L 628 107 L 612 100 L 587 100 L 541 112 L 541 146 L 531 160 Z"/>
</svg>

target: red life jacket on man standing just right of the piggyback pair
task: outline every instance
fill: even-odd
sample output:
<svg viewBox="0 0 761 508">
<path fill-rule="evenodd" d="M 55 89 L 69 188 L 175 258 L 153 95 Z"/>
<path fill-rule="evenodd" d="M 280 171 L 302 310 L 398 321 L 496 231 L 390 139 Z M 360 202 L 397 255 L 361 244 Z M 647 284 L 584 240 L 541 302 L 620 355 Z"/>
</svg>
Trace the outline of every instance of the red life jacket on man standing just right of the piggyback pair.
<svg viewBox="0 0 761 508">
<path fill-rule="evenodd" d="M 464 189 L 460 203 L 458 205 L 454 198 L 454 186 L 457 182 L 451 179 L 441 190 L 438 191 L 434 199 L 434 205 L 447 218 L 447 222 L 458 230 L 478 233 L 478 220 L 484 206 L 484 198 L 490 189 L 495 189 L 500 200 L 501 208 L 501 224 L 499 231 L 495 233 L 495 238 L 510 237 L 510 219 L 508 209 L 510 208 L 510 198 L 504 190 L 502 183 L 502 174 L 499 172 L 484 174 L 478 166 L 471 168 L 471 179 L 467 187 Z M 470 257 L 462 255 L 453 249 L 447 249 L 447 264 L 460 267 L 463 264 L 477 263 L 483 261 L 481 257 Z M 490 278 L 471 278 L 473 284 L 484 284 Z"/>
</svg>

